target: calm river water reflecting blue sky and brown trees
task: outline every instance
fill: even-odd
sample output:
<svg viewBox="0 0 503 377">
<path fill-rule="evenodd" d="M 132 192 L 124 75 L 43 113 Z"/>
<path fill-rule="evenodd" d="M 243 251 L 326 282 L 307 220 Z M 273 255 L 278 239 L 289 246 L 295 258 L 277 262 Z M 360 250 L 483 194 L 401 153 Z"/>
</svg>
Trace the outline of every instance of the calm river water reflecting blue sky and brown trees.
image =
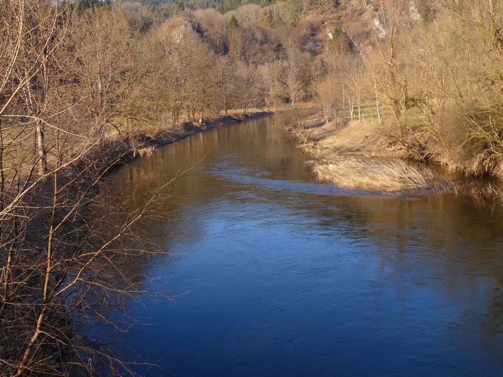
<svg viewBox="0 0 503 377">
<path fill-rule="evenodd" d="M 275 119 L 276 117 L 276 119 Z M 175 301 L 130 303 L 120 335 L 149 376 L 503 375 L 503 206 L 314 182 L 261 118 L 119 168 L 114 187 L 171 187 L 143 227 L 172 256 L 140 262 Z"/>
</svg>

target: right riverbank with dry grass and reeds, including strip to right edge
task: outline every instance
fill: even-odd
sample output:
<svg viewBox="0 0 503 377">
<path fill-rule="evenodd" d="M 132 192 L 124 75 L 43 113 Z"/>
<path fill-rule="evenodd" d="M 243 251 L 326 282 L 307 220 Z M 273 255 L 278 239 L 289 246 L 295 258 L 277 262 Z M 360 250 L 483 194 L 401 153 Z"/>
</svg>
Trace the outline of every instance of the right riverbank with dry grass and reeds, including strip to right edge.
<svg viewBox="0 0 503 377">
<path fill-rule="evenodd" d="M 496 178 L 481 180 L 441 161 L 410 161 L 370 122 L 341 118 L 325 122 L 314 114 L 287 124 L 285 129 L 312 157 L 313 171 L 320 182 L 348 189 L 436 190 L 503 198 Z"/>
</svg>

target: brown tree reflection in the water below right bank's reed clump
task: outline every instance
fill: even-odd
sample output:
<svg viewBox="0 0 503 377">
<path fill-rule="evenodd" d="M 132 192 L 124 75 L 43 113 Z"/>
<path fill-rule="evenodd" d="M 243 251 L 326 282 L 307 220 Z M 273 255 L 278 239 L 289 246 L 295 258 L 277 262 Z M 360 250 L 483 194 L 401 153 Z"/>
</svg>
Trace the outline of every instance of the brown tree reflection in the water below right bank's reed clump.
<svg viewBox="0 0 503 377">
<path fill-rule="evenodd" d="M 433 289 L 446 307 L 466 301 L 474 313 L 464 313 L 453 321 L 469 327 L 472 321 L 483 318 L 480 325 L 486 335 L 500 335 L 501 206 L 480 206 L 471 197 L 452 195 L 416 196 L 410 200 L 331 198 L 329 202 L 330 206 L 320 210 L 325 219 L 321 225 L 344 228 L 349 239 L 377 245 L 383 266 L 380 280 L 393 278 Z M 495 289 L 489 288 L 493 285 Z M 406 293 L 398 288 L 397 299 L 405 305 Z M 480 338 L 480 344 L 484 343 Z"/>
</svg>

